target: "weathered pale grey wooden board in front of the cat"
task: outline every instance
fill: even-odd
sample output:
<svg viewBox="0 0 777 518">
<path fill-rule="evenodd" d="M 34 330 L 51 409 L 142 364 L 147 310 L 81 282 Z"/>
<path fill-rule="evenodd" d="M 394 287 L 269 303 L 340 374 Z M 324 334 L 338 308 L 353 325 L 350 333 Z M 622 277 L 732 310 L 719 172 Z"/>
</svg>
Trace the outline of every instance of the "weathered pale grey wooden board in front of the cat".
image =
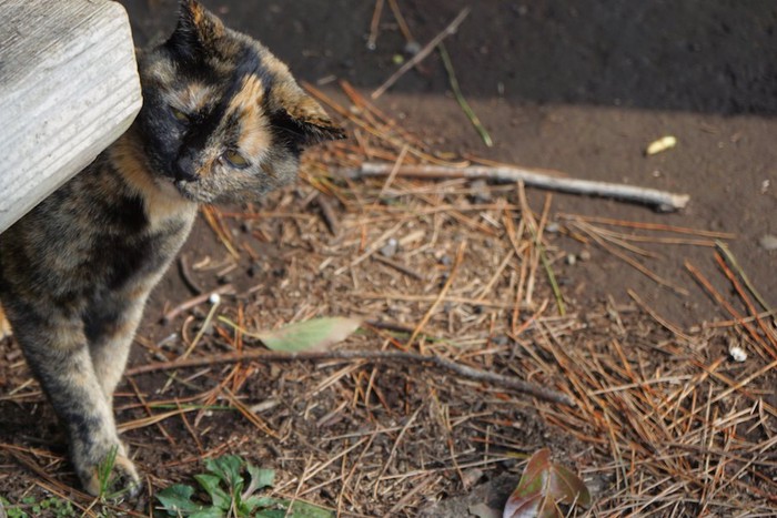
<svg viewBox="0 0 777 518">
<path fill-rule="evenodd" d="M 0 232 L 134 119 L 127 12 L 108 0 L 0 0 Z"/>
</svg>

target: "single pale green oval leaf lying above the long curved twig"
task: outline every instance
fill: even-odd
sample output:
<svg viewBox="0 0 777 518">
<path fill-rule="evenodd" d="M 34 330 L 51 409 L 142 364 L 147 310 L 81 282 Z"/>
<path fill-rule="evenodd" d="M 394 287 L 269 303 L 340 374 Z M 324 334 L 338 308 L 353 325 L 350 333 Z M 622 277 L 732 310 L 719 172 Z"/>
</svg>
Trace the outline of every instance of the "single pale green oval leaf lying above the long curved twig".
<svg viewBox="0 0 777 518">
<path fill-rule="evenodd" d="M 330 317 L 313 318 L 291 324 L 275 331 L 256 333 L 256 337 L 272 351 L 299 353 L 301 351 L 324 349 L 347 338 L 359 328 L 357 318 Z"/>
</svg>

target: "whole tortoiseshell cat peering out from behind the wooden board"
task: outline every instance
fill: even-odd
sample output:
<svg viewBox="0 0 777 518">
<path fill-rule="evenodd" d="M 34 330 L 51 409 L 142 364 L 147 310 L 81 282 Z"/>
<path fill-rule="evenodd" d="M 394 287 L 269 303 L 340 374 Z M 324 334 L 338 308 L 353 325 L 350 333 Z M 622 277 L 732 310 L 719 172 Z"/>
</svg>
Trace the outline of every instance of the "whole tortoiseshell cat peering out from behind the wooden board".
<svg viewBox="0 0 777 518">
<path fill-rule="evenodd" d="M 92 495 L 112 450 L 114 487 L 140 488 L 113 390 L 198 204 L 256 199 L 295 177 L 305 145 L 343 136 L 266 48 L 180 3 L 171 38 L 139 52 L 130 130 L 0 236 L 0 298 Z"/>
</svg>

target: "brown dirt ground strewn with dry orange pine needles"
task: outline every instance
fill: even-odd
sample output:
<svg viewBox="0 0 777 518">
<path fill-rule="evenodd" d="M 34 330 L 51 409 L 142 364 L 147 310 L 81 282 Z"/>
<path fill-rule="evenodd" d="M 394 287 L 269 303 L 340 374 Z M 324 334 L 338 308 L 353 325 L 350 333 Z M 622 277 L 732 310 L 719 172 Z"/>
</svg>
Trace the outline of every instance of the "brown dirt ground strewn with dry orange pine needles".
<svg viewBox="0 0 777 518">
<path fill-rule="evenodd" d="M 173 1 L 121 3 L 139 45 L 174 24 Z M 367 119 L 339 81 L 369 99 L 400 57 L 408 58 L 391 2 L 373 32 L 373 50 L 374 1 L 204 3 L 263 41 L 300 80 L 350 106 L 359 121 Z M 445 45 L 494 145 L 481 141 L 450 93 L 436 52 L 374 102 L 400 136 L 417 136 L 430 153 L 453 153 L 438 154 L 441 160 L 480 156 L 687 193 L 687 209 L 663 214 L 553 193 L 545 220 L 546 193 L 535 189 L 526 189 L 524 202 L 515 185 L 397 177 L 386 190 L 385 179 L 345 182 L 329 176 L 327 167 L 395 159 L 400 149 L 344 121 L 350 141 L 311 154 L 299 185 L 254 207 L 222 207 L 198 224 L 184 261 L 153 294 L 130 367 L 180 356 L 209 305 L 165 324 L 161 317 L 196 292 L 229 285 L 220 314 L 244 327 L 360 315 L 393 328 L 367 326 L 346 348 L 410 346 L 554 388 L 574 397 L 576 409 L 402 363 L 271 362 L 181 369 L 174 378 L 172 370 L 139 374 L 122 385 L 117 406 L 148 474 L 147 492 L 191 481 L 203 457 L 236 453 L 275 468 L 279 495 L 343 516 L 470 516 L 471 504 L 492 498 L 483 495 L 495 490 L 495 480 L 502 486 L 494 507 L 504 502 L 505 487 L 517 483 L 523 467 L 515 453 L 549 447 L 583 475 L 595 500 L 588 511 L 596 516 L 777 514 L 774 322 L 726 324 L 736 317 L 685 265 L 698 268 L 733 309 L 750 313 L 716 265 L 712 237 L 690 236 L 703 245 L 670 244 L 656 237 L 683 234 L 607 227 L 649 236 L 630 246 L 658 255 L 650 257 L 619 247 L 623 236 L 601 245 L 604 223 L 585 220 L 735 234 L 725 241 L 741 271 L 766 305 L 777 304 L 777 252 L 760 243 L 777 235 L 777 6 L 397 4 L 422 45 L 472 8 Z M 674 135 L 677 145 L 646 155 L 646 146 L 664 135 Z M 535 231 L 544 230 L 563 316 L 531 224 L 517 216 L 528 214 L 527 206 Z M 512 224 L 504 221 L 512 216 Z M 593 224 L 603 226 L 586 226 Z M 511 225 L 518 228 L 517 242 L 506 237 Z M 396 251 L 385 250 L 391 237 Z M 536 272 L 533 288 L 528 272 Z M 408 341 L 421 327 L 423 336 Z M 223 324 L 206 331 L 193 355 L 258 347 Z M 729 359 L 731 344 L 748 352 L 745 363 Z M 0 367 L 0 495 L 13 502 L 60 490 L 88 505 L 61 489 L 74 485 L 62 438 L 12 341 L 0 343 L 0 357 L 7 360 Z M 191 407 L 143 420 L 192 403 L 218 409 Z M 434 507 L 437 501 L 447 507 Z M 125 505 L 121 512 L 148 516 L 152 505 L 142 501 L 134 511 Z"/>
</svg>

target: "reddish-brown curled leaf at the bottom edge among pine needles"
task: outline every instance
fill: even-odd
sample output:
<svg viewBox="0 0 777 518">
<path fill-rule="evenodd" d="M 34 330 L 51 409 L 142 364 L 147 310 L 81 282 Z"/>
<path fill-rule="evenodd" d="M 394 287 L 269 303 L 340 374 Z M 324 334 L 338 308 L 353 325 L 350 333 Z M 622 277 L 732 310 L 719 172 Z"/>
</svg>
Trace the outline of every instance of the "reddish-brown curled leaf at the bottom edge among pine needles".
<svg viewBox="0 0 777 518">
<path fill-rule="evenodd" d="M 569 469 L 551 461 L 551 450 L 543 448 L 528 460 L 521 481 L 505 505 L 504 518 L 563 517 L 557 504 L 591 504 L 585 483 Z"/>
</svg>

